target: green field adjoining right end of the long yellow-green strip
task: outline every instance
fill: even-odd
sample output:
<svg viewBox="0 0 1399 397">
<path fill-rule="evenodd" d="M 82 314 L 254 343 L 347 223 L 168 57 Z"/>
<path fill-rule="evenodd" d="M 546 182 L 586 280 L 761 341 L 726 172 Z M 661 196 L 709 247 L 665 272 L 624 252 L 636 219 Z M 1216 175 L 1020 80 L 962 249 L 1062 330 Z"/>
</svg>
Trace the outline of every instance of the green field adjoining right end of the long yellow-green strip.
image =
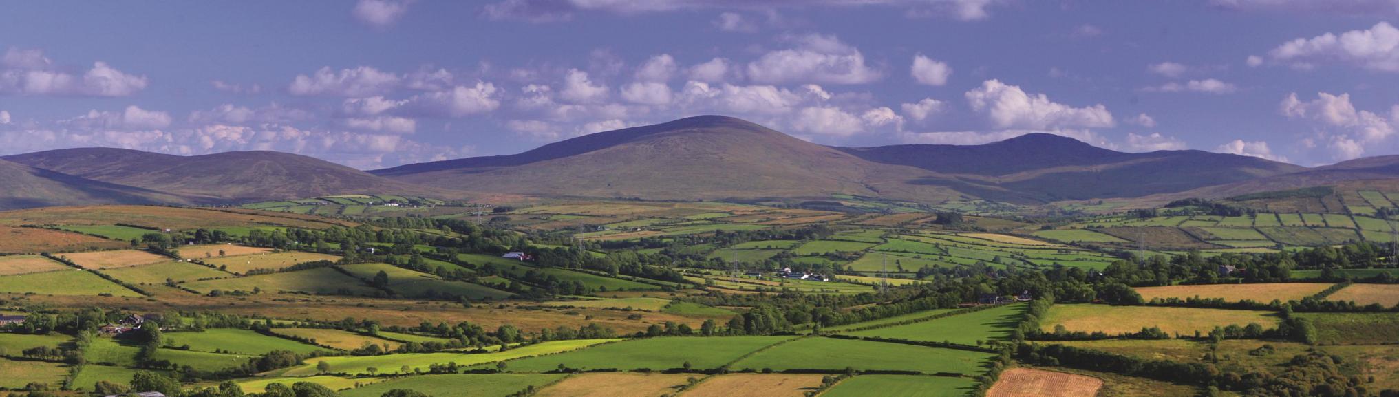
<svg viewBox="0 0 1399 397">
<path fill-rule="evenodd" d="M 596 345 L 565 354 L 512 361 L 513 372 L 547 372 L 558 365 L 572 369 L 715 369 L 764 347 L 792 337 L 669 337 L 639 338 Z"/>
</svg>

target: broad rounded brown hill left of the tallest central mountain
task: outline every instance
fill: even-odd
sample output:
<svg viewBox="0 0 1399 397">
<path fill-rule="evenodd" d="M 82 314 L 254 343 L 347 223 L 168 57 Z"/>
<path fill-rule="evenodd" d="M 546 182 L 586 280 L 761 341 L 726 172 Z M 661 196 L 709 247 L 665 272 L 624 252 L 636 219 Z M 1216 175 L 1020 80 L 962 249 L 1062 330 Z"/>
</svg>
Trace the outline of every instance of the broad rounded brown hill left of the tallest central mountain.
<svg viewBox="0 0 1399 397">
<path fill-rule="evenodd" d="M 456 197 L 333 162 L 274 151 L 179 157 L 120 148 L 71 148 L 3 159 L 78 178 L 187 197 L 199 203 L 277 200 L 348 193 Z"/>
</svg>

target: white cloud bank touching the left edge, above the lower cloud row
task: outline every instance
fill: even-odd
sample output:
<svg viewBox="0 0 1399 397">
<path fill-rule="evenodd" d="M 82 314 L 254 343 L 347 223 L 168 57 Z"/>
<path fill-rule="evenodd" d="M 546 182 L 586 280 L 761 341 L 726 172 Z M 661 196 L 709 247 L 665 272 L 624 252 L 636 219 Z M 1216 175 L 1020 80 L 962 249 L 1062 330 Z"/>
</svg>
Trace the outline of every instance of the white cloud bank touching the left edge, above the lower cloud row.
<svg viewBox="0 0 1399 397">
<path fill-rule="evenodd" d="M 76 75 L 56 68 L 38 49 L 10 48 L 0 57 L 0 94 L 129 96 L 145 85 L 144 75 L 123 73 L 105 62 L 95 62 Z"/>
</svg>

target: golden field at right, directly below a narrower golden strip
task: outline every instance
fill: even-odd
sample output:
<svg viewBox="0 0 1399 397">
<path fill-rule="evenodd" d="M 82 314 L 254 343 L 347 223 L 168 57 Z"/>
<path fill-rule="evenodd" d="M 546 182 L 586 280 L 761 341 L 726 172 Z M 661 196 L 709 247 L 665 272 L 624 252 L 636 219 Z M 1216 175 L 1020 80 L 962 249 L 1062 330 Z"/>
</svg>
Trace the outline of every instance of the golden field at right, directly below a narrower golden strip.
<svg viewBox="0 0 1399 397">
<path fill-rule="evenodd" d="M 1136 333 L 1143 327 L 1160 327 L 1167 334 L 1207 334 L 1216 326 L 1247 326 L 1258 323 L 1265 329 L 1276 326 L 1277 316 L 1259 310 L 1226 310 L 1195 308 L 1053 305 L 1041 320 L 1045 331 L 1063 324 L 1070 331 L 1104 331 L 1108 334 Z"/>
</svg>

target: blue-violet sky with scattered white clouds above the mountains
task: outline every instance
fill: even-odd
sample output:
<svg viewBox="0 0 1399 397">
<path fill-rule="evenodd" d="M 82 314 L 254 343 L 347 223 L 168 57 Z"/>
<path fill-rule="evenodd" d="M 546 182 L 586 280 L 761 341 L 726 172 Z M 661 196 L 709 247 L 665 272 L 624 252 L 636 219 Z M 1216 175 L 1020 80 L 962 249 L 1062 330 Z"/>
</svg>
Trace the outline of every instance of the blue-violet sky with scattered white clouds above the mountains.
<svg viewBox="0 0 1399 397">
<path fill-rule="evenodd" d="M 1399 154 L 1399 0 L 7 1 L 0 155 L 360 169 L 695 115 L 827 145 L 1053 133 Z"/>
</svg>

